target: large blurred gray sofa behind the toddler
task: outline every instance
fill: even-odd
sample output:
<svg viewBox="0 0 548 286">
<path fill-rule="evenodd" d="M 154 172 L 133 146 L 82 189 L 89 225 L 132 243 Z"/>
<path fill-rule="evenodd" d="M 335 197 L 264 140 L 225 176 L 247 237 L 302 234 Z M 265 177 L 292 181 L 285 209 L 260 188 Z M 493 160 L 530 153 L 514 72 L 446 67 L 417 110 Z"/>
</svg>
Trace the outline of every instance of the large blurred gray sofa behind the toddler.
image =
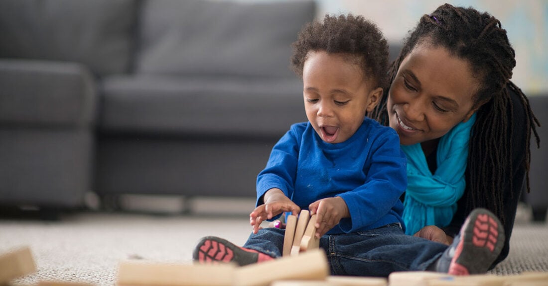
<svg viewBox="0 0 548 286">
<path fill-rule="evenodd" d="M 313 1 L 0 1 L 0 205 L 254 196 Z"/>
</svg>

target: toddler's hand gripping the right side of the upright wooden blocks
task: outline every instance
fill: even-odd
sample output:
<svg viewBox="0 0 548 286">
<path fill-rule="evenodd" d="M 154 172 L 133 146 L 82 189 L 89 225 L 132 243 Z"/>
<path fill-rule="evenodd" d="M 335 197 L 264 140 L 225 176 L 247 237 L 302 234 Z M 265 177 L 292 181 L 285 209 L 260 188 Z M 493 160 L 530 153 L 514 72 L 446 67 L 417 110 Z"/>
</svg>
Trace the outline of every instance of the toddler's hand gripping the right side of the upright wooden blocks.
<svg viewBox="0 0 548 286">
<path fill-rule="evenodd" d="M 342 218 L 350 217 L 348 206 L 340 196 L 312 202 L 309 210 L 310 215 L 316 214 L 316 237 L 318 239 L 339 224 Z"/>
</svg>

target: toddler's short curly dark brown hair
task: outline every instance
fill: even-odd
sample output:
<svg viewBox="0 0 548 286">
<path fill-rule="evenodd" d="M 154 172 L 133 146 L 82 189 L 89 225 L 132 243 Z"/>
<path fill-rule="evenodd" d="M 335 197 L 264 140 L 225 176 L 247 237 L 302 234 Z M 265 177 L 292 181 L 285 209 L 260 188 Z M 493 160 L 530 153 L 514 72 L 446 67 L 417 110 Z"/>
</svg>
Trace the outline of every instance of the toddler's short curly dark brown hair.
<svg viewBox="0 0 548 286">
<path fill-rule="evenodd" d="M 326 15 L 323 22 L 305 25 L 293 43 L 291 67 L 297 75 L 302 76 L 311 51 L 350 56 L 357 60 L 363 75 L 373 80 L 375 87 L 387 87 L 388 44 L 379 28 L 363 16 Z"/>
</svg>

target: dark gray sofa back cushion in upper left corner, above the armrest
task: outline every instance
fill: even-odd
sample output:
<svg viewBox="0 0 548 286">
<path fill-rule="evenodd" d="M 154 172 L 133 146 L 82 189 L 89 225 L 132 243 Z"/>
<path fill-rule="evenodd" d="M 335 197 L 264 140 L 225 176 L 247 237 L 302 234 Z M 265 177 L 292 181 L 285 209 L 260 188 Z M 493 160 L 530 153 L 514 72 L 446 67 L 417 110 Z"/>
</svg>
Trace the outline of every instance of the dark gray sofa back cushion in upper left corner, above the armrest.
<svg viewBox="0 0 548 286">
<path fill-rule="evenodd" d="M 0 57 L 84 63 L 96 75 L 128 69 L 134 0 L 2 0 Z"/>
</svg>

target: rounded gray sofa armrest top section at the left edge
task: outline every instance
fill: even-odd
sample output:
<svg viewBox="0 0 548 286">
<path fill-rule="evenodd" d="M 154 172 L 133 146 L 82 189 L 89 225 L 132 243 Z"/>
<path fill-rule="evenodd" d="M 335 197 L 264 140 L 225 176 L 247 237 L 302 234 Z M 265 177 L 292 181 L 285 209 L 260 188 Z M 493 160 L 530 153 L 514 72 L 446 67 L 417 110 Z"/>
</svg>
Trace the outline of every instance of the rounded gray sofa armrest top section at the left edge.
<svg viewBox="0 0 548 286">
<path fill-rule="evenodd" d="M 94 122 L 95 79 L 82 64 L 0 59 L 0 124 L 81 127 Z"/>
</svg>

